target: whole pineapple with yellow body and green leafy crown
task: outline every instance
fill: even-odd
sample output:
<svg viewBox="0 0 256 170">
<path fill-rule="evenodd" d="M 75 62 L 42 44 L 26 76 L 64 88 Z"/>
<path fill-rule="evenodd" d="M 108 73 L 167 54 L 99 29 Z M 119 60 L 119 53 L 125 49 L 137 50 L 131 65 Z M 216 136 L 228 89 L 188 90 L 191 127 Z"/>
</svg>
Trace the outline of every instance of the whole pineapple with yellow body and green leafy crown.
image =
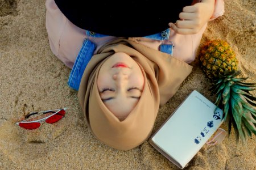
<svg viewBox="0 0 256 170">
<path fill-rule="evenodd" d="M 199 52 L 201 67 L 213 83 L 210 91 L 216 95 L 215 104 L 224 111 L 224 121 L 228 121 L 229 134 L 233 129 L 237 142 L 241 138 L 256 135 L 256 97 L 250 94 L 256 83 L 243 82 L 238 78 L 236 54 L 224 40 L 212 40 L 203 45 Z"/>
</svg>

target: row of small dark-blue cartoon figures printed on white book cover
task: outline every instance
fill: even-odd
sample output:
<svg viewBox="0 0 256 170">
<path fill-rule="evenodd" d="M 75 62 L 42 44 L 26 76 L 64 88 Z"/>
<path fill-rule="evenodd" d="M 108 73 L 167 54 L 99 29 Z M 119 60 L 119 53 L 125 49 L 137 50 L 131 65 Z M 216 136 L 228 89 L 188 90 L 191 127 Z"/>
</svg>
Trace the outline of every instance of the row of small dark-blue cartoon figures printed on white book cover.
<svg viewBox="0 0 256 170">
<path fill-rule="evenodd" d="M 220 109 L 216 109 L 216 111 L 213 113 L 213 120 L 210 120 L 207 122 L 206 126 L 204 127 L 204 129 L 201 130 L 200 135 L 198 135 L 195 139 L 194 142 L 196 144 L 199 144 L 201 142 L 201 140 L 207 136 L 207 134 L 209 133 L 210 129 L 213 128 L 214 123 L 218 120 L 221 120 L 221 113 L 220 113 Z"/>
</svg>

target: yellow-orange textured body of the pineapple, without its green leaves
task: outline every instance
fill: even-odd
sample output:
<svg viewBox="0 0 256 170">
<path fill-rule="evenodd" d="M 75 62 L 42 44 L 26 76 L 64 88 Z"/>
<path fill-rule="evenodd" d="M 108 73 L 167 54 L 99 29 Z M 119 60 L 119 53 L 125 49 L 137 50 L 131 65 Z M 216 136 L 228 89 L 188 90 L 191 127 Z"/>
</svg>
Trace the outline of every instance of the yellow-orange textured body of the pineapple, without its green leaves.
<svg viewBox="0 0 256 170">
<path fill-rule="evenodd" d="M 224 40 L 207 41 L 200 49 L 199 57 L 209 79 L 230 75 L 238 70 L 236 54 Z"/>
</svg>

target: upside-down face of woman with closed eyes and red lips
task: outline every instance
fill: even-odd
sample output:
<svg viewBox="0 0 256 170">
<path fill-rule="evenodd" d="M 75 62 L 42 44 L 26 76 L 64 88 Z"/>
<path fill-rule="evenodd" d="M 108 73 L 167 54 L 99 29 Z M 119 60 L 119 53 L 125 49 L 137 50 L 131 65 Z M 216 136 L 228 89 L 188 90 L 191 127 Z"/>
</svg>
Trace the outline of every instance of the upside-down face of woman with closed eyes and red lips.
<svg viewBox="0 0 256 170">
<path fill-rule="evenodd" d="M 97 86 L 106 107 L 116 117 L 126 118 L 141 97 L 144 76 L 133 58 L 119 52 L 101 66 Z"/>
</svg>

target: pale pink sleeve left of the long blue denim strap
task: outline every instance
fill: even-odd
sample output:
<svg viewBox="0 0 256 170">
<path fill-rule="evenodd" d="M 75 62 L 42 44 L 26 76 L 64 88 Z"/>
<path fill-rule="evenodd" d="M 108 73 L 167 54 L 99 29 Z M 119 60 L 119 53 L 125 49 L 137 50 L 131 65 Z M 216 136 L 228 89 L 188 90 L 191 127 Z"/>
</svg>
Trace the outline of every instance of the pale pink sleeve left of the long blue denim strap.
<svg viewBox="0 0 256 170">
<path fill-rule="evenodd" d="M 53 54 L 72 68 L 86 37 L 85 29 L 72 24 L 54 0 L 46 0 L 46 29 Z"/>
</svg>

